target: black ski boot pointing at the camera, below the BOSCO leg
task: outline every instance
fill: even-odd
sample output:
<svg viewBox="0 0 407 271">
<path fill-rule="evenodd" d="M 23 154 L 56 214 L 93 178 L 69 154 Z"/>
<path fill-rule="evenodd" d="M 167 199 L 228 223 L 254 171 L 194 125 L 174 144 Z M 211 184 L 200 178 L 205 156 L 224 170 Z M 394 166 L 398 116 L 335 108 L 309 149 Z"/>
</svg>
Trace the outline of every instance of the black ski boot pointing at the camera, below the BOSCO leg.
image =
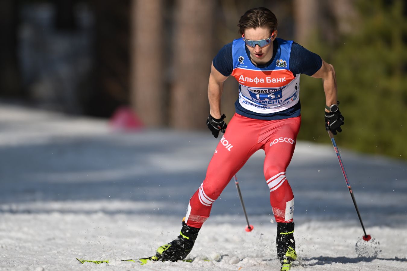
<svg viewBox="0 0 407 271">
<path fill-rule="evenodd" d="M 290 264 L 297 259 L 294 240 L 294 222 L 277 223 L 277 258 L 281 262 L 281 270 L 290 270 Z"/>
</svg>

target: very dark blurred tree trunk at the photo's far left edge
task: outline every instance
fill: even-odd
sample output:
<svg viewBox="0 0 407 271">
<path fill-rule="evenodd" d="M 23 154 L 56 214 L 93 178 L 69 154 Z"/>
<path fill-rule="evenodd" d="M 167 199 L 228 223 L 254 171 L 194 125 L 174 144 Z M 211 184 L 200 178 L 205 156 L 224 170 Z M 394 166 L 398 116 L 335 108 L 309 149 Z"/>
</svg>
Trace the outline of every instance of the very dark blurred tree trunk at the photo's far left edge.
<svg viewBox="0 0 407 271">
<path fill-rule="evenodd" d="M 0 9 L 0 95 L 22 96 L 17 59 L 18 4 L 4 0 Z"/>
</svg>

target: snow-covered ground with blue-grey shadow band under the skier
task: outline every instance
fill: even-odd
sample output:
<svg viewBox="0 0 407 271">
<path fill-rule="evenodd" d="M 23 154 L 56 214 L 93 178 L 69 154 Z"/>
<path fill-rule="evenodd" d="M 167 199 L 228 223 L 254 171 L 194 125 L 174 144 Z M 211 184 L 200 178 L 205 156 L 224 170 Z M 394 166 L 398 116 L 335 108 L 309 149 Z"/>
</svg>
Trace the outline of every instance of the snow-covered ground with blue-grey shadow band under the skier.
<svg viewBox="0 0 407 271">
<path fill-rule="evenodd" d="M 151 256 L 177 236 L 216 144 L 205 131 L 118 133 L 105 121 L 0 104 L 0 271 L 279 270 L 261 152 L 237 174 L 252 232 L 231 182 L 190 254 L 197 261 L 120 261 Z M 407 270 L 407 163 L 341 156 L 376 241 L 355 250 L 363 232 L 328 136 L 326 145 L 299 142 L 287 170 L 292 270 Z"/>
</svg>

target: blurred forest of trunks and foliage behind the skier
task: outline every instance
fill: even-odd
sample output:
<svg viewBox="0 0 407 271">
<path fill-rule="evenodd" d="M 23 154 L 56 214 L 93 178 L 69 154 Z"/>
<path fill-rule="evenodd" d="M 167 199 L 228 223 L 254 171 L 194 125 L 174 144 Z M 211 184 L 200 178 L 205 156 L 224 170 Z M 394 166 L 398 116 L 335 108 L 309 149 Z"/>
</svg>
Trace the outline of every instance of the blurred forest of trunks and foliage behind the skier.
<svg viewBox="0 0 407 271">
<path fill-rule="evenodd" d="M 340 146 L 406 160 L 407 4 L 403 0 L 2 0 L 0 102 L 147 127 L 207 129 L 210 64 L 239 38 L 240 16 L 267 7 L 278 37 L 334 65 L 345 116 Z M 328 143 L 321 80 L 301 78 L 300 140 Z M 225 82 L 230 119 L 237 82 Z M 209 135 L 208 135 L 209 136 Z"/>
</svg>

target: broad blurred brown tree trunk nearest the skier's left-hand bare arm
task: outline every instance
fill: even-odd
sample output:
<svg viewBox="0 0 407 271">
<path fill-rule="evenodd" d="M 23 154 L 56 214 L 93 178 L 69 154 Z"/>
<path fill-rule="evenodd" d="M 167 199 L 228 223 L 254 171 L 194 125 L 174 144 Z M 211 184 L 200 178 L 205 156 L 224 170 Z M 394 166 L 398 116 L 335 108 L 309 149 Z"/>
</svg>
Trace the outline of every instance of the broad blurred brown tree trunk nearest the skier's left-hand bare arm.
<svg viewBox="0 0 407 271">
<path fill-rule="evenodd" d="M 174 78 L 170 125 L 204 128 L 209 114 L 214 1 L 178 0 L 175 13 Z"/>
</svg>

